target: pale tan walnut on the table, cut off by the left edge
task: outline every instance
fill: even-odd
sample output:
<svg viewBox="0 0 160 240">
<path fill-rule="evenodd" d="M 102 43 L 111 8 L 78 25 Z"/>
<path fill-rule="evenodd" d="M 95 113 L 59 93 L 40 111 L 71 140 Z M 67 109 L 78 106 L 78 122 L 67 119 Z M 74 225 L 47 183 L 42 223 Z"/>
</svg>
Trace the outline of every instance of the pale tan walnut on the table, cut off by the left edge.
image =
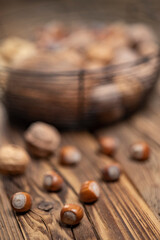
<svg viewBox="0 0 160 240">
<path fill-rule="evenodd" d="M 0 173 L 22 174 L 30 161 L 27 152 L 16 145 L 5 145 L 0 148 Z"/>
</svg>

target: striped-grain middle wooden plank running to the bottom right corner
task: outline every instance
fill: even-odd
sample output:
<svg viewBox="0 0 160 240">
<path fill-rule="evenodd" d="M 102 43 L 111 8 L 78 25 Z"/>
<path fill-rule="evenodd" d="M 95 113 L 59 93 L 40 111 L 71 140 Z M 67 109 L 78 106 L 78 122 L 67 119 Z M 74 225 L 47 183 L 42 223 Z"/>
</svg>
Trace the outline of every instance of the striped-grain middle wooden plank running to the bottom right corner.
<svg viewBox="0 0 160 240">
<path fill-rule="evenodd" d="M 53 166 L 77 194 L 83 181 L 94 179 L 99 182 L 101 198 L 96 204 L 85 207 L 102 239 L 117 239 L 117 236 L 119 239 L 159 238 L 158 221 L 125 175 L 118 183 L 106 184 L 100 180 L 100 168 L 111 159 L 97 155 L 96 141 L 87 133 L 69 133 L 63 137 L 64 144 L 74 143 L 83 152 L 83 161 L 77 168 L 66 169 L 53 159 Z"/>
</svg>

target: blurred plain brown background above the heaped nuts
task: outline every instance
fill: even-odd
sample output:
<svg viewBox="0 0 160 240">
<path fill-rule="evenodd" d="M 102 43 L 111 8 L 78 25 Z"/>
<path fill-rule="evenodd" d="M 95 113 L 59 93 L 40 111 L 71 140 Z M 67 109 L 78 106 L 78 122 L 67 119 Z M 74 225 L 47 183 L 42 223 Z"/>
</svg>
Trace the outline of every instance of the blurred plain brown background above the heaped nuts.
<svg viewBox="0 0 160 240">
<path fill-rule="evenodd" d="M 143 21 L 152 24 L 159 34 L 159 1 L 88 0 L 88 1 L 25 1 L 1 0 L 1 38 L 11 35 L 28 36 L 33 29 L 53 19 L 106 21 L 108 19 Z"/>
</svg>

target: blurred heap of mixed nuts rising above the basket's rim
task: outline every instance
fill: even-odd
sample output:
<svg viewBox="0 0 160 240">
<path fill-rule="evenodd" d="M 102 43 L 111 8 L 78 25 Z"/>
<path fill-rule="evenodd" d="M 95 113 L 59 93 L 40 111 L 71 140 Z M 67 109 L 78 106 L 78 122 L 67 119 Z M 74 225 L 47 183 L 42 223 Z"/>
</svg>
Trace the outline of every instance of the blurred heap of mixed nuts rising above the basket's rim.
<svg viewBox="0 0 160 240">
<path fill-rule="evenodd" d="M 51 22 L 35 33 L 33 41 L 17 37 L 2 41 L 0 63 L 35 70 L 36 67 L 43 70 L 45 62 L 51 69 L 53 65 L 65 70 L 94 69 L 155 54 L 158 52 L 155 40 L 152 30 L 141 23 L 67 27 L 62 22 Z"/>
</svg>

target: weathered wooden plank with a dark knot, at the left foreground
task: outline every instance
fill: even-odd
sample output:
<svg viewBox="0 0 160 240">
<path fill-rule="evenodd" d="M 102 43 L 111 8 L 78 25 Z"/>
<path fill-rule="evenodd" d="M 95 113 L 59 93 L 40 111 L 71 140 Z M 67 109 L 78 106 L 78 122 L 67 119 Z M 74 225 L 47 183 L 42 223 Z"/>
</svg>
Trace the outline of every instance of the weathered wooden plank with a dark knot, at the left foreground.
<svg viewBox="0 0 160 240">
<path fill-rule="evenodd" d="M 8 142 L 19 145 L 24 144 L 22 137 L 19 137 L 17 133 L 14 134 L 14 131 L 12 131 L 12 134 L 10 134 L 8 130 L 5 128 L 5 133 L 7 135 L 6 138 L 8 139 Z M 7 140 L 5 142 L 7 142 Z M 82 223 L 75 229 L 67 228 L 61 225 L 61 207 L 66 202 L 77 203 L 77 195 L 67 184 L 65 184 L 63 190 L 59 193 L 48 194 L 45 192 L 42 187 L 43 175 L 49 169 L 51 169 L 49 161 L 37 161 L 32 159 L 32 163 L 30 164 L 25 176 L 2 178 L 1 184 L 3 184 L 4 194 L 6 194 L 8 198 L 10 198 L 11 195 L 17 191 L 27 191 L 33 197 L 33 207 L 31 211 L 26 214 L 15 214 L 15 219 L 17 220 L 19 228 L 23 232 L 24 238 L 35 240 L 68 240 L 76 238 L 86 240 L 97 239 L 93 226 L 86 215 L 84 216 Z M 51 205 L 51 209 L 46 211 L 46 205 Z M 3 208 L 0 208 L 0 212 L 2 212 L 2 210 Z M 9 218 L 9 216 L 6 217 L 6 222 L 7 218 Z M 8 232 L 10 233 L 9 229 Z M 5 236 L 7 236 L 7 233 Z"/>
</svg>

